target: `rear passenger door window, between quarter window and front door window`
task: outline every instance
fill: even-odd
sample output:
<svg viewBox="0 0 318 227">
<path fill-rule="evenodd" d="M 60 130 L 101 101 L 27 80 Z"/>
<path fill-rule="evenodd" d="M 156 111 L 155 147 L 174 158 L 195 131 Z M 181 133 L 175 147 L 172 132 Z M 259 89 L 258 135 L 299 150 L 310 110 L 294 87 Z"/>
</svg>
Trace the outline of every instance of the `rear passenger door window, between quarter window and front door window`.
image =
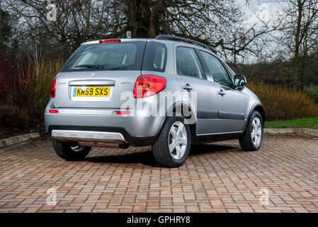
<svg viewBox="0 0 318 227">
<path fill-rule="evenodd" d="M 176 48 L 176 67 L 178 74 L 205 79 L 203 67 L 193 48 Z"/>
</svg>

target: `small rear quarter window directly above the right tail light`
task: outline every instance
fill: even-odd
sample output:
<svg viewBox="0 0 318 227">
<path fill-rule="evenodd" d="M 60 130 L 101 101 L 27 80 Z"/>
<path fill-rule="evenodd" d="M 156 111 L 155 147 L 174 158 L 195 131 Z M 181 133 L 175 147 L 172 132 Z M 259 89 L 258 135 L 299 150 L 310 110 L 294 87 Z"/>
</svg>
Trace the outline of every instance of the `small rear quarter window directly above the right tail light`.
<svg viewBox="0 0 318 227">
<path fill-rule="evenodd" d="M 142 70 L 155 72 L 166 70 L 166 45 L 155 42 L 147 43 Z"/>
</svg>

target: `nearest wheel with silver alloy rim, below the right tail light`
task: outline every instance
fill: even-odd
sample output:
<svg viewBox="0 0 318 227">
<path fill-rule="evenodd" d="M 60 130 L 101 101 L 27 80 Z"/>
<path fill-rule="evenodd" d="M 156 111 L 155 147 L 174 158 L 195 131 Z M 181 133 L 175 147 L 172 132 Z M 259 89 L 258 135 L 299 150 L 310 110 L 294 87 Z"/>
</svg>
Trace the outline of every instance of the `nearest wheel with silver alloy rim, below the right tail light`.
<svg viewBox="0 0 318 227">
<path fill-rule="evenodd" d="M 167 118 L 159 138 L 152 145 L 154 159 L 162 167 L 179 167 L 188 157 L 191 147 L 191 133 L 189 125 L 184 124 L 184 119 L 183 116 Z"/>
</svg>

